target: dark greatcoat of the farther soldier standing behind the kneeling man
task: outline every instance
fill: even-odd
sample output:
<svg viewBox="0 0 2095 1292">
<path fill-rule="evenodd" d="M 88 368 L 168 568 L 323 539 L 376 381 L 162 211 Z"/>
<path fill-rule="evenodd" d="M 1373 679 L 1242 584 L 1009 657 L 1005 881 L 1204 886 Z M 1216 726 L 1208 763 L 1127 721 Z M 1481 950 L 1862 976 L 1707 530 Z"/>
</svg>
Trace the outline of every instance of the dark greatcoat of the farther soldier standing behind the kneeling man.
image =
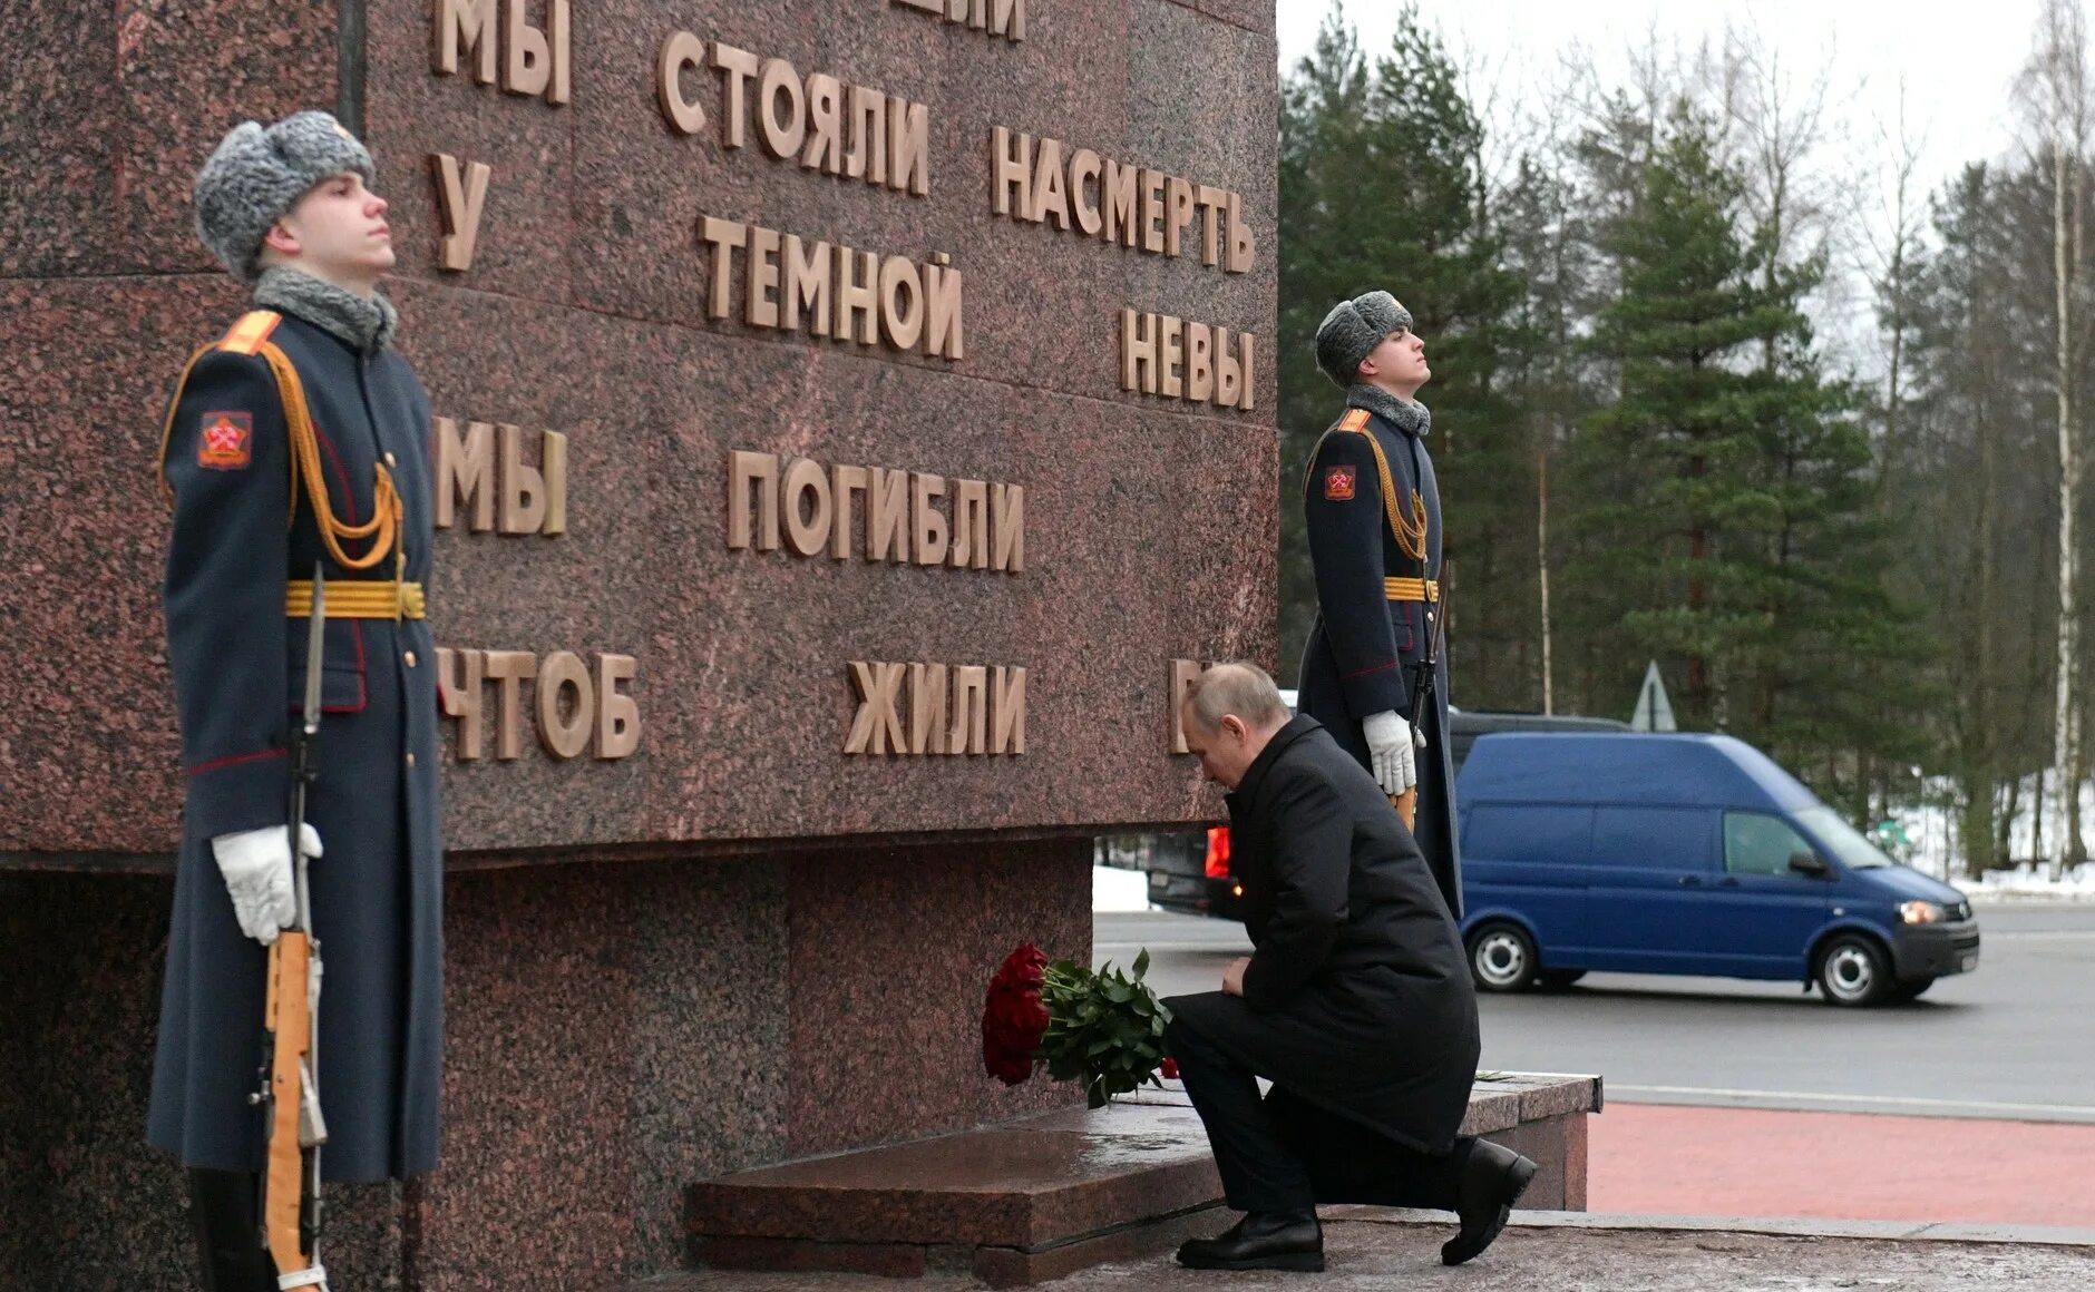
<svg viewBox="0 0 2095 1292">
<path fill-rule="evenodd" d="M 1412 718 L 1412 693 L 1435 628 L 1431 605 L 1389 601 L 1385 578 L 1441 576 L 1439 480 L 1425 440 L 1376 413 L 1379 392 L 1347 398 L 1366 413 L 1360 431 L 1341 417 L 1318 442 L 1303 477 L 1309 563 L 1316 570 L 1318 618 L 1303 647 L 1297 710 L 1322 722 L 1339 745 L 1370 766 L 1362 720 L 1395 710 Z M 1381 396 L 1389 398 L 1389 396 Z M 1427 513 L 1425 561 L 1399 544 L 1383 507 L 1372 436 L 1389 463 L 1391 484 L 1410 515 L 1412 492 Z M 1448 909 L 1462 915 L 1462 850 L 1454 810 L 1454 741 L 1448 735 L 1448 651 L 1433 676 L 1433 704 L 1418 718 L 1427 748 L 1418 750 L 1418 810 L 1412 833 L 1433 867 Z"/>
</svg>

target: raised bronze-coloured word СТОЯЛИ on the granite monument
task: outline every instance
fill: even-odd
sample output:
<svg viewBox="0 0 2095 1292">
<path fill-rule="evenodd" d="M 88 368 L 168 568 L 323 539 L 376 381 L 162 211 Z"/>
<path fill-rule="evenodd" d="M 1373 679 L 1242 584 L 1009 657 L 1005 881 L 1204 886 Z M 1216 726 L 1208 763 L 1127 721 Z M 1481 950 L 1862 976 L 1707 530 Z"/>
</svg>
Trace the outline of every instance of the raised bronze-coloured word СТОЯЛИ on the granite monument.
<svg viewBox="0 0 2095 1292">
<path fill-rule="evenodd" d="M 656 57 L 656 103 L 677 134 L 706 128 L 706 109 L 683 92 L 685 71 L 706 63 L 706 42 L 689 31 L 670 31 Z M 710 65 L 727 90 L 725 147 L 748 144 L 754 115 L 756 140 L 773 157 L 899 193 L 930 193 L 930 109 L 922 103 L 825 71 L 802 77 L 786 59 L 758 59 L 721 42 L 712 44 Z"/>
</svg>

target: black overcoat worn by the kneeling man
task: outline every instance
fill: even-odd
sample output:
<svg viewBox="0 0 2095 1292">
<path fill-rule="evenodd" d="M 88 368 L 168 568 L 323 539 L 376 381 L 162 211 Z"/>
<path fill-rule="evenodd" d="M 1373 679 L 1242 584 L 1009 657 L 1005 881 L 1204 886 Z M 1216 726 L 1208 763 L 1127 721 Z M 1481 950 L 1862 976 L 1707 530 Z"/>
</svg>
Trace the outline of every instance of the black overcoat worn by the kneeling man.
<svg viewBox="0 0 2095 1292">
<path fill-rule="evenodd" d="M 1418 844 L 1314 718 L 1288 720 L 1228 802 L 1257 951 L 1242 997 L 1173 997 L 1177 1020 L 1293 1095 L 1446 1152 L 1477 1076 L 1477 997 Z"/>
</svg>

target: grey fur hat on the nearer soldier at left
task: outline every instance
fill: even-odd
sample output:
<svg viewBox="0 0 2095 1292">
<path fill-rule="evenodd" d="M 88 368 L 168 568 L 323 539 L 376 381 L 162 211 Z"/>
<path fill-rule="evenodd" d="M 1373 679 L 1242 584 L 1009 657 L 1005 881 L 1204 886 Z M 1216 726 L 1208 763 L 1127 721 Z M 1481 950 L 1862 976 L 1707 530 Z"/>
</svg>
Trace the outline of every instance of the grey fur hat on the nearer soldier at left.
<svg viewBox="0 0 2095 1292">
<path fill-rule="evenodd" d="M 377 182 L 371 153 L 327 113 L 291 113 L 274 126 L 241 121 L 197 172 L 197 237 L 235 279 L 253 287 L 270 224 L 314 184 L 350 172 L 365 184 Z"/>
</svg>

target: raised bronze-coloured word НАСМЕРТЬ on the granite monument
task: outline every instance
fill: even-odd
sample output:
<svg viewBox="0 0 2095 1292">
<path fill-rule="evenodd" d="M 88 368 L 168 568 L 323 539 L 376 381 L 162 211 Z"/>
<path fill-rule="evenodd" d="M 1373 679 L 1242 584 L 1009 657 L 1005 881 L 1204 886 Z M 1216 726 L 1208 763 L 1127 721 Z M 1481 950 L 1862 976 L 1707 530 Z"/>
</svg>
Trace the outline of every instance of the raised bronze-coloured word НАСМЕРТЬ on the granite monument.
<svg viewBox="0 0 2095 1292">
<path fill-rule="evenodd" d="M 1200 264 L 1232 274 L 1251 270 L 1251 226 L 1234 191 L 1123 165 L 1091 149 L 1077 149 L 1064 161 L 1060 140 L 1035 140 L 1004 126 L 989 132 L 989 205 L 1012 220 L 1075 226 L 1152 255 L 1186 255 L 1198 243 Z M 1196 216 L 1200 237 L 1188 239 Z"/>
</svg>

